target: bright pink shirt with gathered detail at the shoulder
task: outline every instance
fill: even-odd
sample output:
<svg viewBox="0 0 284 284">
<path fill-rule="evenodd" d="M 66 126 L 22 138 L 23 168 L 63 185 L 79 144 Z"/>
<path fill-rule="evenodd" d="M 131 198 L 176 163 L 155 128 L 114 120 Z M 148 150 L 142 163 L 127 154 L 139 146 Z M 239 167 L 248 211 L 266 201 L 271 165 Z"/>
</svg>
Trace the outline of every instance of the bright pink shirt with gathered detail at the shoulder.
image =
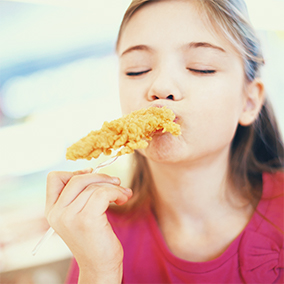
<svg viewBox="0 0 284 284">
<path fill-rule="evenodd" d="M 123 283 L 284 283 L 284 174 L 263 175 L 263 195 L 244 231 L 218 258 L 190 262 L 173 255 L 149 208 L 108 212 L 124 248 Z M 77 283 L 74 260 L 67 278 Z"/>
</svg>

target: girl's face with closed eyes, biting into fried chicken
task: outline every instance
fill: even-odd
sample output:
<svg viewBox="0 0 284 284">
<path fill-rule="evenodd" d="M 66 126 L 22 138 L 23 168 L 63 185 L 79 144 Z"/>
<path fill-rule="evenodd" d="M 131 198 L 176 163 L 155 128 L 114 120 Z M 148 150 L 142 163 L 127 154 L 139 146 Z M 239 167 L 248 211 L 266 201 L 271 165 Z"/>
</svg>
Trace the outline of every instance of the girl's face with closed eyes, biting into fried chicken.
<svg viewBox="0 0 284 284">
<path fill-rule="evenodd" d="M 228 153 L 244 107 L 242 59 L 208 28 L 192 1 L 138 10 L 122 33 L 118 55 L 123 113 L 166 105 L 181 125 L 178 138 L 154 135 L 147 156 L 177 162 Z"/>
</svg>

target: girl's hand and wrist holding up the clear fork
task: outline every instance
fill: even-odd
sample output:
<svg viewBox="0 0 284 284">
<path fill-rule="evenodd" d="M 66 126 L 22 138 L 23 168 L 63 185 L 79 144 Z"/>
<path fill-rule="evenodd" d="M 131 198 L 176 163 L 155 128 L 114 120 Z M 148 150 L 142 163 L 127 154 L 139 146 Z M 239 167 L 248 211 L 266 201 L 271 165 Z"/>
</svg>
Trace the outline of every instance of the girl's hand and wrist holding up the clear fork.
<svg viewBox="0 0 284 284">
<path fill-rule="evenodd" d="M 106 275 L 122 277 L 123 249 L 105 212 L 110 202 L 122 205 L 131 196 L 118 178 L 92 169 L 51 172 L 47 177 L 47 220 L 70 248 L 80 274 L 92 275 L 92 283 Z"/>
</svg>

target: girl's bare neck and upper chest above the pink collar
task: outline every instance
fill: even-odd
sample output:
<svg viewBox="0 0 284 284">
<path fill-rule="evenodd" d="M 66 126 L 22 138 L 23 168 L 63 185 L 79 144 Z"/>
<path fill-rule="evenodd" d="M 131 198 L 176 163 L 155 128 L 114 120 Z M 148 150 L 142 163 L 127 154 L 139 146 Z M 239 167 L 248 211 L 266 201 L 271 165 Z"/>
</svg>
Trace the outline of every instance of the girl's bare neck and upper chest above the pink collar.
<svg viewBox="0 0 284 284">
<path fill-rule="evenodd" d="M 149 161 L 157 222 L 169 249 L 183 259 L 220 256 L 253 214 L 229 182 L 228 156 L 229 151 L 194 164 Z"/>
</svg>

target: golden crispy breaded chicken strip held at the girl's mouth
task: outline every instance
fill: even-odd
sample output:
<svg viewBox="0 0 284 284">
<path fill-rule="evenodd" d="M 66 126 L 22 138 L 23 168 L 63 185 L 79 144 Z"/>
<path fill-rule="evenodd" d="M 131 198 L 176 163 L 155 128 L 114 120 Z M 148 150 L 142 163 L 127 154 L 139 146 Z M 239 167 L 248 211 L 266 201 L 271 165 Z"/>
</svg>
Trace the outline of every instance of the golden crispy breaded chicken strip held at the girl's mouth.
<svg viewBox="0 0 284 284">
<path fill-rule="evenodd" d="M 124 146 L 117 156 L 133 153 L 135 149 L 148 146 L 151 134 L 156 130 L 178 136 L 180 125 L 174 122 L 175 114 L 167 107 L 150 107 L 133 111 L 128 115 L 104 122 L 100 130 L 91 131 L 67 149 L 66 159 L 77 160 L 98 158 L 101 153 L 110 155 L 112 150 Z"/>
</svg>

